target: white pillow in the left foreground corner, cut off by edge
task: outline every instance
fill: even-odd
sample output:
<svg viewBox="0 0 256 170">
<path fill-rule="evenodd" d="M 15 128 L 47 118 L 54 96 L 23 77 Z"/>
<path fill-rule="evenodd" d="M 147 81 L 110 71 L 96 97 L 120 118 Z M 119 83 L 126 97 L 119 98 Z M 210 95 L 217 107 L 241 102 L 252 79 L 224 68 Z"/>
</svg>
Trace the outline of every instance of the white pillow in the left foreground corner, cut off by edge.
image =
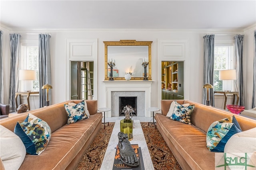
<svg viewBox="0 0 256 170">
<path fill-rule="evenodd" d="M 6 170 L 20 168 L 26 156 L 26 148 L 15 133 L 0 125 L 0 158 Z"/>
</svg>

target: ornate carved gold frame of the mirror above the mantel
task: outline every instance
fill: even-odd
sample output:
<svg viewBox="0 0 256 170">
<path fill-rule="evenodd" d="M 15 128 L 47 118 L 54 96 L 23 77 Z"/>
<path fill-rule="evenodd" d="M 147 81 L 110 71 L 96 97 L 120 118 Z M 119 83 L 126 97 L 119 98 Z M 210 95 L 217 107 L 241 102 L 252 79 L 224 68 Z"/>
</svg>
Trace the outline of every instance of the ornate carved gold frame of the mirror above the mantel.
<svg viewBox="0 0 256 170">
<path fill-rule="evenodd" d="M 153 41 L 136 41 L 136 40 L 120 40 L 120 41 L 103 41 L 105 44 L 105 80 L 108 80 L 108 46 L 148 46 L 148 80 L 151 78 L 151 44 Z M 114 80 L 125 80 L 124 77 L 113 77 Z M 131 80 L 143 80 L 144 77 L 132 77 Z"/>
</svg>

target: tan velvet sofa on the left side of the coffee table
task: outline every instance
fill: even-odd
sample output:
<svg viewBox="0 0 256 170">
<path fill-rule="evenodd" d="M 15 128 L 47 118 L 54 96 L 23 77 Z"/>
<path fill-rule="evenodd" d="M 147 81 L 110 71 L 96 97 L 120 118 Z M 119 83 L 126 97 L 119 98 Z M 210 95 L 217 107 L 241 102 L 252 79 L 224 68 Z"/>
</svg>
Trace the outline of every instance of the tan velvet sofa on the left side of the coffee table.
<svg viewBox="0 0 256 170">
<path fill-rule="evenodd" d="M 97 100 L 86 100 L 90 117 L 67 125 L 68 117 L 64 104 L 68 104 L 68 102 L 79 103 L 81 100 L 70 100 L 0 120 L 0 125 L 14 131 L 17 121 L 24 121 L 28 113 L 31 113 L 46 121 L 51 128 L 52 135 L 46 149 L 40 155 L 27 154 L 20 170 L 69 170 L 76 168 L 100 131 L 102 113 L 97 112 Z"/>
</svg>

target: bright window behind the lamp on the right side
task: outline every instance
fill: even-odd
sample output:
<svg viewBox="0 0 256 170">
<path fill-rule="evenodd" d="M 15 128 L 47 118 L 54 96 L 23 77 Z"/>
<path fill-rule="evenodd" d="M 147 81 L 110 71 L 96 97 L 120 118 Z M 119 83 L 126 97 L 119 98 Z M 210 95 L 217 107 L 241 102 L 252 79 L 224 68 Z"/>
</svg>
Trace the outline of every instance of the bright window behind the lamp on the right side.
<svg viewBox="0 0 256 170">
<path fill-rule="evenodd" d="M 220 70 L 234 69 L 233 44 L 215 45 L 214 47 L 214 91 L 234 90 L 233 80 L 219 80 Z"/>
</svg>

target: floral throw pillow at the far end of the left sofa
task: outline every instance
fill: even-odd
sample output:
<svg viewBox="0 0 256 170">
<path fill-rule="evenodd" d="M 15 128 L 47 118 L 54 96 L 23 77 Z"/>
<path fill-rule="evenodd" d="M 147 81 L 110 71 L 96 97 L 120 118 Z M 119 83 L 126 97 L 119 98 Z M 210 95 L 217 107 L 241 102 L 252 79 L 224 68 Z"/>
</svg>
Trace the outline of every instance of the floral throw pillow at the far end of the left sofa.
<svg viewBox="0 0 256 170">
<path fill-rule="evenodd" d="M 77 121 L 88 118 L 84 109 L 84 100 L 75 106 L 68 104 L 64 104 L 64 106 L 68 115 L 68 124 L 76 123 Z"/>
</svg>

